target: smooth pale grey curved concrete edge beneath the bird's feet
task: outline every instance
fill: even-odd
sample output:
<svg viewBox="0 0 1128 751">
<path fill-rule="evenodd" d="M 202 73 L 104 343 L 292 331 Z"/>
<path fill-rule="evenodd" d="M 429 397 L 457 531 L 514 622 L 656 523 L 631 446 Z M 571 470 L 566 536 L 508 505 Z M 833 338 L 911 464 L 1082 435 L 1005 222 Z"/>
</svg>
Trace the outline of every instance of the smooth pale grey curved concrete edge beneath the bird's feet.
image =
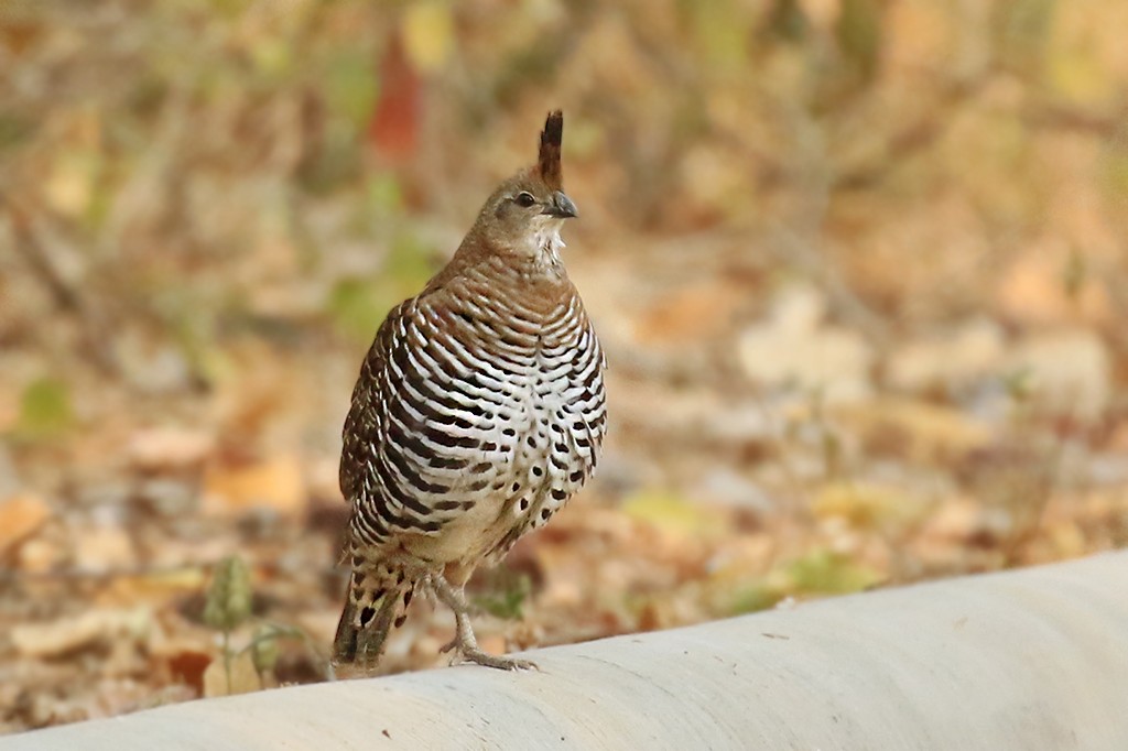
<svg viewBox="0 0 1128 751">
<path fill-rule="evenodd" d="M 1128 749 L 1128 553 L 0 737 L 54 749 Z"/>
</svg>

